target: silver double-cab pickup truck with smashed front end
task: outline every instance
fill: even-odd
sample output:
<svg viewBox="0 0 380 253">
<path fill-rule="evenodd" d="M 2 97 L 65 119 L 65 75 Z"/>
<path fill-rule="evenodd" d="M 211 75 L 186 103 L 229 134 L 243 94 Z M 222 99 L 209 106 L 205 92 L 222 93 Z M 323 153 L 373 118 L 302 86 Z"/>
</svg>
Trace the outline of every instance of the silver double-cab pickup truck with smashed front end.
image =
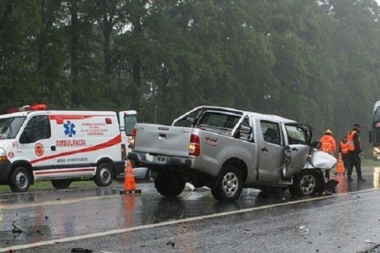
<svg viewBox="0 0 380 253">
<path fill-rule="evenodd" d="M 239 198 L 243 187 L 320 194 L 336 158 L 318 150 L 311 127 L 279 116 L 200 106 L 171 126 L 137 123 L 128 159 L 151 169 L 157 191 L 208 186 L 215 199 Z"/>
</svg>

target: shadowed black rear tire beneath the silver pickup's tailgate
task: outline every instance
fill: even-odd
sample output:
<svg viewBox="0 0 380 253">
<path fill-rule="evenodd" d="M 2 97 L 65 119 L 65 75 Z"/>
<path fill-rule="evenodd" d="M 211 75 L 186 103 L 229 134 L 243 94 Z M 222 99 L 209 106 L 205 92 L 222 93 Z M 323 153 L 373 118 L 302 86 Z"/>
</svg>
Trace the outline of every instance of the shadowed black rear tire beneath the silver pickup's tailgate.
<svg viewBox="0 0 380 253">
<path fill-rule="evenodd" d="M 183 176 L 173 172 L 160 172 L 154 179 L 154 186 L 158 193 L 169 198 L 180 195 L 185 189 L 185 184 Z"/>
</svg>

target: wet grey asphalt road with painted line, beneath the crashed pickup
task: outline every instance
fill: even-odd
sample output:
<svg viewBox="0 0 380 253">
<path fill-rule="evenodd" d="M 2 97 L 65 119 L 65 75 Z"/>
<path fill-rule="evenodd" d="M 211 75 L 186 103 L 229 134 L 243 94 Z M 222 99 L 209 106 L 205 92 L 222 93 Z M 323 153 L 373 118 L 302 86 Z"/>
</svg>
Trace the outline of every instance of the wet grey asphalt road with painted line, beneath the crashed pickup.
<svg viewBox="0 0 380 253">
<path fill-rule="evenodd" d="M 0 194 L 0 252 L 377 252 L 380 168 L 364 171 L 364 183 L 335 176 L 333 196 L 247 189 L 227 204 L 205 189 L 162 198 L 152 183 Z"/>
</svg>

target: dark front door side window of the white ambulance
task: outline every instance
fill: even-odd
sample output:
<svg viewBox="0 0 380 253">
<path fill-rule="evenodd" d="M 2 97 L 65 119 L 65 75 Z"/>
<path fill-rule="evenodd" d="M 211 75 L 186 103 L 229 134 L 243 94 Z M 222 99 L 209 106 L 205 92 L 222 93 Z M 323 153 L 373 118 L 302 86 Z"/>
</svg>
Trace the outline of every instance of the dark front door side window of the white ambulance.
<svg viewBox="0 0 380 253">
<path fill-rule="evenodd" d="M 51 136 L 50 122 L 46 115 L 34 116 L 26 125 L 20 138 L 21 143 L 33 143 Z"/>
</svg>

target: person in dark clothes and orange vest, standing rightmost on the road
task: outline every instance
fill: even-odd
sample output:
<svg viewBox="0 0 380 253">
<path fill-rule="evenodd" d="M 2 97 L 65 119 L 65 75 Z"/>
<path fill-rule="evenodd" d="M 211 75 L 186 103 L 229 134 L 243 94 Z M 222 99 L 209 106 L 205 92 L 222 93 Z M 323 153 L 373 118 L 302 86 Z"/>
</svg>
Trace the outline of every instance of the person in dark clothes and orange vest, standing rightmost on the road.
<svg viewBox="0 0 380 253">
<path fill-rule="evenodd" d="M 363 156 L 363 151 L 360 143 L 360 124 L 354 124 L 353 129 L 347 134 L 348 143 L 348 170 L 347 170 L 347 180 L 353 181 L 351 175 L 352 170 L 355 166 L 356 174 L 358 175 L 358 181 L 366 181 L 362 177 L 361 168 L 361 156 Z"/>
</svg>

